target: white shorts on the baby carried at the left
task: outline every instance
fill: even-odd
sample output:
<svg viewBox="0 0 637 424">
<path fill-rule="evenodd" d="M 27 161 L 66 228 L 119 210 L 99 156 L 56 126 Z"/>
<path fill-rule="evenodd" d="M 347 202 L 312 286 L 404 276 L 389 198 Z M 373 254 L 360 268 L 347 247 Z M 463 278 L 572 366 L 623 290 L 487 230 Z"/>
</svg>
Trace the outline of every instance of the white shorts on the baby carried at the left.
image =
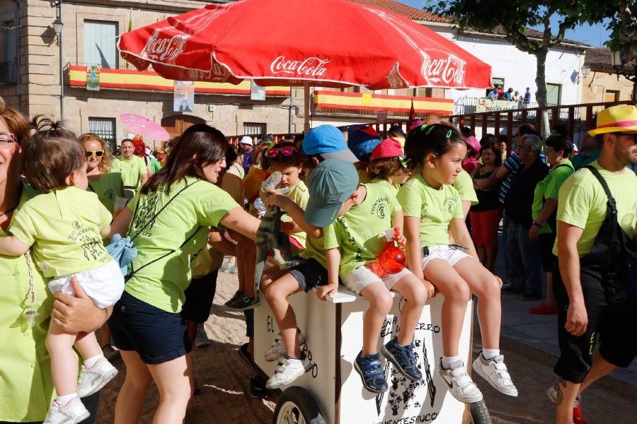
<svg viewBox="0 0 637 424">
<path fill-rule="evenodd" d="M 124 276 L 117 262 L 113 260 L 98 269 L 53 278 L 49 282 L 51 293 L 61 291 L 68 295 L 75 295 L 71 286 L 72 276 L 77 278 L 77 282 L 84 288 L 86 295 L 101 309 L 115 305 L 115 302 L 122 297 Z"/>
</svg>

